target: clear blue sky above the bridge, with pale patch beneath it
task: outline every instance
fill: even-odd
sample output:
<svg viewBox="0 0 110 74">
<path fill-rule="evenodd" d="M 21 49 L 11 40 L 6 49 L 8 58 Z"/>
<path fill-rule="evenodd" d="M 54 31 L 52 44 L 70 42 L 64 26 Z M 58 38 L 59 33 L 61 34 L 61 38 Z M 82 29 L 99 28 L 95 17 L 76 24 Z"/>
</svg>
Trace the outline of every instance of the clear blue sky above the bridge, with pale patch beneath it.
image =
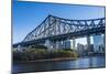
<svg viewBox="0 0 110 74">
<path fill-rule="evenodd" d="M 21 42 L 48 14 L 73 20 L 97 19 L 105 18 L 105 8 L 14 0 L 12 7 L 13 43 Z M 86 44 L 86 39 L 79 39 L 77 42 Z"/>
</svg>

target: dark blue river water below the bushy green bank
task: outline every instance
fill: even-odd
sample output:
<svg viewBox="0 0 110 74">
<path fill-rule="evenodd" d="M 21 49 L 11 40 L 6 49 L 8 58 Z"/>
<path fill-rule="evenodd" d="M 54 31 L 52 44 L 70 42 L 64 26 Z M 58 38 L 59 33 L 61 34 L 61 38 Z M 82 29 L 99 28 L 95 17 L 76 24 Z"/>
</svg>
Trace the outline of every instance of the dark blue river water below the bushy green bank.
<svg viewBox="0 0 110 74">
<path fill-rule="evenodd" d="M 36 62 L 13 64 L 12 72 L 44 72 L 44 71 L 59 71 L 59 70 L 78 70 L 105 67 L 105 56 L 80 57 L 70 61 L 54 61 L 54 62 Z"/>
</svg>

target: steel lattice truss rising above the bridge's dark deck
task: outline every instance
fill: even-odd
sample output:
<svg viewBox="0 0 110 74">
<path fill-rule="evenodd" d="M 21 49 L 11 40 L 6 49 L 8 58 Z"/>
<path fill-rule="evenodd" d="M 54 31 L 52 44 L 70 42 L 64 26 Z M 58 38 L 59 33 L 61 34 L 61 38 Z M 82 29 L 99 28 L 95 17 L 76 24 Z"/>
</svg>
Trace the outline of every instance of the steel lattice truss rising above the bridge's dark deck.
<svg viewBox="0 0 110 74">
<path fill-rule="evenodd" d="M 48 15 L 23 42 L 106 27 L 106 19 L 69 20 Z"/>
</svg>

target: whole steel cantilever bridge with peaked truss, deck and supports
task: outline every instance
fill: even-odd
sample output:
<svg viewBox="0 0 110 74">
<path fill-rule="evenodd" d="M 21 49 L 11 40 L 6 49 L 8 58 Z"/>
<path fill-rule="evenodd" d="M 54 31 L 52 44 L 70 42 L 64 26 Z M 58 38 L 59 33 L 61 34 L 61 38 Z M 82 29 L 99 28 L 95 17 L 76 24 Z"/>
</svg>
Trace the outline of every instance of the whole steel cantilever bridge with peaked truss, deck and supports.
<svg viewBox="0 0 110 74">
<path fill-rule="evenodd" d="M 89 36 L 92 34 L 105 34 L 106 19 L 70 20 L 54 15 L 48 15 L 37 28 L 30 32 L 22 42 L 13 44 L 28 46 L 32 44 L 44 44 L 48 49 L 55 49 L 57 41 L 87 36 L 88 49 Z"/>
</svg>

